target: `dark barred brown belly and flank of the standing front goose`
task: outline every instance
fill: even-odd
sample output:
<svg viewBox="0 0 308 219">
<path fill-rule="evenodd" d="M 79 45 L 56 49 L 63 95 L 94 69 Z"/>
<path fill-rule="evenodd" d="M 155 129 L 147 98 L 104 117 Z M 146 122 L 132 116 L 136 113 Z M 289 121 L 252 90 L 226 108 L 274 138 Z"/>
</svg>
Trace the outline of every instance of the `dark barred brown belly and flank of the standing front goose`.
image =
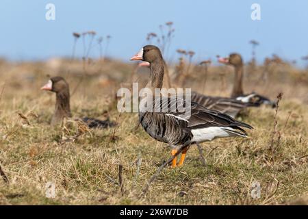
<svg viewBox="0 0 308 219">
<path fill-rule="evenodd" d="M 192 139 L 190 130 L 183 128 L 185 122 L 179 122 L 165 114 L 140 113 L 139 120 L 146 133 L 159 142 L 178 146 Z"/>
</svg>

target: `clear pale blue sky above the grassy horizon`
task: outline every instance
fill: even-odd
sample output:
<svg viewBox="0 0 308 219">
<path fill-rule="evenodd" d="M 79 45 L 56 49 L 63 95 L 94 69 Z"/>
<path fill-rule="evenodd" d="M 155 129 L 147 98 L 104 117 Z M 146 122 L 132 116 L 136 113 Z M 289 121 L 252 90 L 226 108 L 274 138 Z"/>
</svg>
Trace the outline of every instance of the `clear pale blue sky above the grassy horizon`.
<svg viewBox="0 0 308 219">
<path fill-rule="evenodd" d="M 45 5 L 55 5 L 55 21 L 45 19 Z M 261 21 L 251 20 L 251 4 L 261 5 Z M 259 60 L 277 53 L 287 60 L 308 54 L 308 1 L 81 1 L 1 0 L 0 55 L 12 60 L 44 60 L 70 56 L 72 32 L 110 34 L 108 54 L 128 60 L 146 44 L 146 34 L 172 21 L 176 49 L 196 51 L 196 60 L 237 51 L 251 58 L 248 41 L 260 42 Z M 77 55 L 82 55 L 81 40 Z M 94 51 L 92 55 L 98 55 Z"/>
</svg>

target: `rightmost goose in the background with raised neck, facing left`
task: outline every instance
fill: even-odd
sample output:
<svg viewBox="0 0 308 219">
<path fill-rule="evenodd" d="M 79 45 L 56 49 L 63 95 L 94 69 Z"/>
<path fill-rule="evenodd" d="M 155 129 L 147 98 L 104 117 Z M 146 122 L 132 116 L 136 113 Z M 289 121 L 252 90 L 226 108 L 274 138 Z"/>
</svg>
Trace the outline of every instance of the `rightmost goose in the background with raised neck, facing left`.
<svg viewBox="0 0 308 219">
<path fill-rule="evenodd" d="M 231 53 L 229 57 L 218 57 L 218 62 L 222 64 L 229 64 L 234 67 L 235 77 L 231 98 L 242 101 L 243 103 L 257 103 L 259 105 L 270 105 L 273 108 L 276 107 L 276 103 L 270 101 L 270 99 L 266 96 L 261 96 L 255 92 L 252 92 L 251 94 L 244 94 L 242 85 L 244 65 L 240 54 Z"/>
</svg>

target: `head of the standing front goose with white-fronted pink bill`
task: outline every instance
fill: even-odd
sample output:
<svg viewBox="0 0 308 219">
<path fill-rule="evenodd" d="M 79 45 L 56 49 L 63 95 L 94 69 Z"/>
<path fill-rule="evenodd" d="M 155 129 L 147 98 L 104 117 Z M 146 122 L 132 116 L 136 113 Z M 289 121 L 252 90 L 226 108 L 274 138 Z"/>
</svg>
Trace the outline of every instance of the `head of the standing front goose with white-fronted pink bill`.
<svg viewBox="0 0 308 219">
<path fill-rule="evenodd" d="M 159 51 L 158 47 L 153 45 L 146 45 L 140 49 L 140 51 L 131 57 L 131 61 L 144 61 L 150 64 L 157 61 L 162 61 L 162 53 Z"/>
</svg>

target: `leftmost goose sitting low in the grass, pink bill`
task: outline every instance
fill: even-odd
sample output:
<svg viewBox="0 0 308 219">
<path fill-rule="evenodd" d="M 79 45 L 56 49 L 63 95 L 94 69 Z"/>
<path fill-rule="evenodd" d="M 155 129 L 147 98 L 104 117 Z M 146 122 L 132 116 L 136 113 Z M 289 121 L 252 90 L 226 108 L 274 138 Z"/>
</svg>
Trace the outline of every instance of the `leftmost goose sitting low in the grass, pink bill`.
<svg viewBox="0 0 308 219">
<path fill-rule="evenodd" d="M 49 90 L 55 92 L 55 112 L 51 119 L 51 125 L 61 123 L 64 118 L 72 117 L 70 112 L 70 90 L 68 83 L 63 77 L 51 77 L 49 81 L 40 88 L 41 90 Z M 99 120 L 96 118 L 84 117 L 81 120 L 88 125 L 89 128 L 107 128 L 113 127 L 115 123 L 107 120 Z"/>
</svg>

